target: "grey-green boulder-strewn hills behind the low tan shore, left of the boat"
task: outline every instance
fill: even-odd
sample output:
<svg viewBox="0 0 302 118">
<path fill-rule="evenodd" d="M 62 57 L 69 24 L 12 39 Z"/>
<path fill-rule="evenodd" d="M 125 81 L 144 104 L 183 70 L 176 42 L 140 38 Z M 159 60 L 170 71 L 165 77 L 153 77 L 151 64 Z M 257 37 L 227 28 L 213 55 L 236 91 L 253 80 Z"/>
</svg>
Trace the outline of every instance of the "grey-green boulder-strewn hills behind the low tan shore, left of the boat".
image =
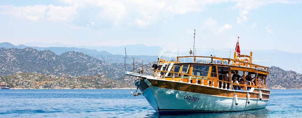
<svg viewBox="0 0 302 118">
<path fill-rule="evenodd" d="M 107 63 L 75 51 L 56 55 L 50 50 L 0 48 L 0 75 L 12 75 L 19 71 L 56 76 L 89 76 L 103 73 L 107 78 L 116 79 L 124 74 L 124 64 Z"/>
</svg>

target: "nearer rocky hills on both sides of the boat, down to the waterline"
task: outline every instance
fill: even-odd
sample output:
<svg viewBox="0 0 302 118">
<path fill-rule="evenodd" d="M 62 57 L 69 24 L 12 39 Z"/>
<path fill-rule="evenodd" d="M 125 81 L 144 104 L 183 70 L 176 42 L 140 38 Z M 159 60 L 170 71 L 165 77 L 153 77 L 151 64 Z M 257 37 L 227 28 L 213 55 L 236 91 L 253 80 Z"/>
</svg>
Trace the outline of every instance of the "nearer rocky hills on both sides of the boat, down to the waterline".
<svg viewBox="0 0 302 118">
<path fill-rule="evenodd" d="M 1 81 L 14 88 L 128 88 L 137 78 L 124 75 L 124 63 L 108 63 L 82 52 L 56 55 L 30 47 L 0 48 Z M 151 64 L 144 73 L 152 75 Z M 137 70 L 136 70 L 137 71 Z M 302 75 L 271 66 L 268 88 L 301 88 Z M 76 82 L 76 83 L 75 83 Z"/>
</svg>

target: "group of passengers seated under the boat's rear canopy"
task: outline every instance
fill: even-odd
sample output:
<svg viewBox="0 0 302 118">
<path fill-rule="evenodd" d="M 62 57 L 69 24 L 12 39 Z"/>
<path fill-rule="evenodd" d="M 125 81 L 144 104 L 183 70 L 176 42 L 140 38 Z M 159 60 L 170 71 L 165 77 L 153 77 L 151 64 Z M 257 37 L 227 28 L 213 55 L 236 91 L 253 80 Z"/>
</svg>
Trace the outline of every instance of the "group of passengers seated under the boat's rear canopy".
<svg viewBox="0 0 302 118">
<path fill-rule="evenodd" d="M 241 78 L 239 80 L 239 78 Z M 239 84 L 246 84 L 246 85 L 256 85 L 256 86 L 260 86 L 263 87 L 265 86 L 264 80 L 265 80 L 265 76 L 263 75 L 259 75 L 255 74 L 255 77 L 252 77 L 252 73 L 248 72 L 248 75 L 246 75 L 246 81 L 244 82 L 243 80 L 243 76 L 238 75 L 238 70 L 235 70 L 235 74 L 233 74 L 232 76 L 232 83 L 235 83 L 236 85 L 233 85 L 233 89 L 235 90 L 244 90 L 244 86 L 239 86 Z M 255 84 L 255 79 L 257 79 L 257 83 Z M 239 81 L 238 81 L 239 80 Z M 228 81 L 228 76 L 224 75 L 223 77 L 223 81 Z M 225 85 L 223 85 L 223 88 L 225 88 Z M 229 88 L 229 85 L 227 84 L 226 88 Z M 250 89 L 251 87 L 246 87 L 246 90 Z"/>
</svg>

